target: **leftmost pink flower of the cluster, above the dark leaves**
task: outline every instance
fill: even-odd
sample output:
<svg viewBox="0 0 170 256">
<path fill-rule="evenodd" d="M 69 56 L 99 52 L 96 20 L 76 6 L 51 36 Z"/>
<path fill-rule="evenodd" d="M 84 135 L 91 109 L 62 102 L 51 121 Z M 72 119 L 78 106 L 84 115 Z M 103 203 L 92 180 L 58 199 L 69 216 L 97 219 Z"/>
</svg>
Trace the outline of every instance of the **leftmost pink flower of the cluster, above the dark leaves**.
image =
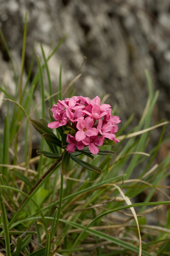
<svg viewBox="0 0 170 256">
<path fill-rule="evenodd" d="M 48 127 L 49 128 L 58 128 L 59 126 L 63 126 L 65 124 L 67 124 L 67 117 L 65 112 L 61 111 L 61 110 L 55 110 L 53 113 L 53 117 L 55 118 L 56 121 L 49 123 Z"/>
</svg>

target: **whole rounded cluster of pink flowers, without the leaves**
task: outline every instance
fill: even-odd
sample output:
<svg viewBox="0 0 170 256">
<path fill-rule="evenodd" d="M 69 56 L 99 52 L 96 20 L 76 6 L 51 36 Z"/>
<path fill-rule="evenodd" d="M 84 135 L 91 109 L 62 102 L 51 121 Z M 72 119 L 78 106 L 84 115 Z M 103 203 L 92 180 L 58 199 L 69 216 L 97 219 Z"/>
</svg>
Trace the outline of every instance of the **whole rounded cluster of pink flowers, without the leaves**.
<svg viewBox="0 0 170 256">
<path fill-rule="evenodd" d="M 49 128 L 67 127 L 67 151 L 72 153 L 76 147 L 82 150 L 89 147 L 92 154 L 99 153 L 98 146 L 103 145 L 104 140 L 116 139 L 117 124 L 120 123 L 118 116 L 111 116 L 111 106 L 101 104 L 96 96 L 93 100 L 88 97 L 73 96 L 65 100 L 58 100 L 52 107 L 53 117 L 56 121 L 49 123 Z M 70 135 L 70 134 L 72 135 Z"/>
</svg>

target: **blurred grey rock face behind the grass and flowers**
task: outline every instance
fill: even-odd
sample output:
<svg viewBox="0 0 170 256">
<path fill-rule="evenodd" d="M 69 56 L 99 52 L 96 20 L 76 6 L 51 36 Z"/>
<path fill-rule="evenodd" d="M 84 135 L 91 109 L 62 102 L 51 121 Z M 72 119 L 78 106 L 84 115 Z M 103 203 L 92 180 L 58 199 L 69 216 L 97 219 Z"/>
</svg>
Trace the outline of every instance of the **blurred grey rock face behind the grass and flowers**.
<svg viewBox="0 0 170 256">
<path fill-rule="evenodd" d="M 26 11 L 26 73 L 34 41 L 35 56 L 41 56 L 40 44 L 48 55 L 51 45 L 54 49 L 67 33 L 49 61 L 54 92 L 58 86 L 60 61 L 66 86 L 79 70 L 85 55 L 82 76 L 73 86 L 77 88 L 76 95 L 93 98 L 109 93 L 107 103 L 124 108 L 120 114 L 123 122 L 135 113 L 135 125 L 147 101 L 144 70 L 148 69 L 154 90 L 160 91 L 154 119 L 170 120 L 169 1 L 0 0 L 0 25 L 16 68 L 18 63 L 18 71 Z M 35 58 L 33 72 L 36 66 Z M 12 87 L 10 67 L 0 41 L 0 79 L 6 79 L 8 87 Z"/>
</svg>

